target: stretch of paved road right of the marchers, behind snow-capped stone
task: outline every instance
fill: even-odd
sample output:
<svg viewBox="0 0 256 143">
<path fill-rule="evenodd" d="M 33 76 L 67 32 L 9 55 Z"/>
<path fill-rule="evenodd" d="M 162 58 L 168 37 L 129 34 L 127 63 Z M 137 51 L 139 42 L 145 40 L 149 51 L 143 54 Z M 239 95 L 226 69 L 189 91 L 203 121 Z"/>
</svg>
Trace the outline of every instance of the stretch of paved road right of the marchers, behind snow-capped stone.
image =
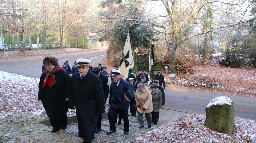
<svg viewBox="0 0 256 143">
<path fill-rule="evenodd" d="M 191 113 L 205 113 L 208 103 L 219 96 L 226 96 L 234 101 L 236 116 L 256 120 L 256 98 L 252 97 L 224 95 L 181 88 L 165 88 L 164 108 Z"/>
</svg>

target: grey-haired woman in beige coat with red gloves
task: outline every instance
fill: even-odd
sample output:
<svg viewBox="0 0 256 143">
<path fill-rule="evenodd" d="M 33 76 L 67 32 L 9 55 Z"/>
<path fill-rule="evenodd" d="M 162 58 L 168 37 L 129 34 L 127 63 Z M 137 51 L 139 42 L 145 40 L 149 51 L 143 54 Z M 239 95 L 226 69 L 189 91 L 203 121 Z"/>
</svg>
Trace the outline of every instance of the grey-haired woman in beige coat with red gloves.
<svg viewBox="0 0 256 143">
<path fill-rule="evenodd" d="M 143 113 L 145 113 L 146 120 L 148 122 L 148 128 L 151 128 L 153 105 L 151 93 L 146 85 L 143 83 L 138 84 L 138 89 L 135 94 L 135 101 L 137 103 L 137 112 L 139 116 L 139 128 L 144 127 Z"/>
</svg>

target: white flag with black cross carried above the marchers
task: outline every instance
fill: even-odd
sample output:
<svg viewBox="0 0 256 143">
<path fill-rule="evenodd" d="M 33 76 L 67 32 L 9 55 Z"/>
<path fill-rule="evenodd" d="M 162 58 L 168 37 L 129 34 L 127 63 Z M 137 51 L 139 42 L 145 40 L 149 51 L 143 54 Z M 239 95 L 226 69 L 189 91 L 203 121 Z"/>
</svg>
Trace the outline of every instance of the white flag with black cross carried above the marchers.
<svg viewBox="0 0 256 143">
<path fill-rule="evenodd" d="M 128 34 L 118 70 L 122 72 L 122 77 L 125 80 L 127 80 L 129 76 L 129 69 L 132 69 L 133 67 L 134 67 L 134 61 L 132 57 L 130 36 Z"/>
</svg>

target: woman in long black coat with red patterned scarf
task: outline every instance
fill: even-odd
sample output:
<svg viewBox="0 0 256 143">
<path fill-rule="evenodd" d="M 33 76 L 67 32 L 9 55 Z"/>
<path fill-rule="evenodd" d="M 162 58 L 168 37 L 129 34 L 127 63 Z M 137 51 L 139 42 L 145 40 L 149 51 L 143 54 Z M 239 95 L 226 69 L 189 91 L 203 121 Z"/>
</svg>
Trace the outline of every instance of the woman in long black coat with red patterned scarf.
<svg viewBox="0 0 256 143">
<path fill-rule="evenodd" d="M 57 60 L 47 56 L 43 60 L 46 70 L 39 81 L 38 101 L 43 107 L 53 127 L 52 132 L 65 130 L 67 127 L 68 93 L 70 75 L 61 67 Z"/>
</svg>

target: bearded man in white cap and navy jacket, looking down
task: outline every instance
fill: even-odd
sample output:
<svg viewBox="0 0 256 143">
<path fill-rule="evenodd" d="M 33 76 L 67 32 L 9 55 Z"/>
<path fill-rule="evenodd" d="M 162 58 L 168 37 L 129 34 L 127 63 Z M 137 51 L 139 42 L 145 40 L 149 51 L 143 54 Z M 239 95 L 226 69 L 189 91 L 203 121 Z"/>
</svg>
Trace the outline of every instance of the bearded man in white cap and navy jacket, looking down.
<svg viewBox="0 0 256 143">
<path fill-rule="evenodd" d="M 112 76 L 114 81 L 110 85 L 109 89 L 109 101 L 110 104 L 108 110 L 108 120 L 110 131 L 107 134 L 112 134 L 116 132 L 115 125 L 115 115 L 119 114 L 122 116 L 124 121 L 124 135 L 129 134 L 129 119 L 128 119 L 128 109 L 129 102 L 132 100 L 131 85 L 121 78 L 122 72 L 112 69 Z"/>
</svg>

